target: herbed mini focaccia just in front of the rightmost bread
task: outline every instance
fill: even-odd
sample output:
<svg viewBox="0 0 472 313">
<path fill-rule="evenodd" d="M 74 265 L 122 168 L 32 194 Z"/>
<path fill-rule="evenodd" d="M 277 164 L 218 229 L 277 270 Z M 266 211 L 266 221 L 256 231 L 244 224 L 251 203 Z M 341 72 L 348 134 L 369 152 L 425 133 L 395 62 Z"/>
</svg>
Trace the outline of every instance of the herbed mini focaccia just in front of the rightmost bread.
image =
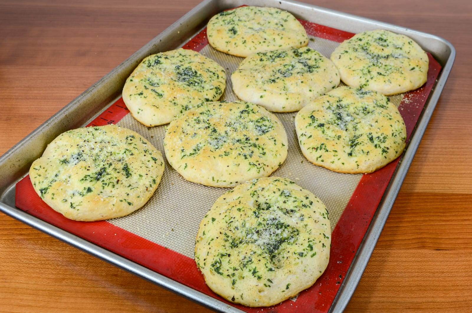
<svg viewBox="0 0 472 313">
<path fill-rule="evenodd" d="M 375 91 L 336 88 L 295 116 L 303 155 L 340 173 L 371 173 L 399 157 L 406 128 L 398 109 Z"/>
</svg>

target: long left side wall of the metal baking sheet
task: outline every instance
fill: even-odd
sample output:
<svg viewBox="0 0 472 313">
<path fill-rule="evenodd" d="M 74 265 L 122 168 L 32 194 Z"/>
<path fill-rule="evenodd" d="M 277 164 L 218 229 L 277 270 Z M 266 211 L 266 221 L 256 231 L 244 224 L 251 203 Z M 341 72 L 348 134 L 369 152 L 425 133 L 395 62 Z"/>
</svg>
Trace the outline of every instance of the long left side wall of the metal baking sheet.
<svg viewBox="0 0 472 313">
<path fill-rule="evenodd" d="M 198 4 L 1 156 L 0 201 L 6 189 L 41 156 L 47 143 L 66 130 L 84 125 L 91 116 L 104 109 L 121 93 L 126 78 L 145 56 L 174 49 L 193 35 L 201 28 L 208 12 L 217 12 L 215 3 L 218 0 L 204 0 Z"/>
</svg>

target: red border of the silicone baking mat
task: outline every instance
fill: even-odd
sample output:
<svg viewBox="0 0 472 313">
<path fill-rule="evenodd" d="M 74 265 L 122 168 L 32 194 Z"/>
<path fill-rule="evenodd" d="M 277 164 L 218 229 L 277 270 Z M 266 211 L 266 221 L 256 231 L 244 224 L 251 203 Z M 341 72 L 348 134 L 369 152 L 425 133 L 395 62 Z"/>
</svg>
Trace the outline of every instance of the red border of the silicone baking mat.
<svg viewBox="0 0 472 313">
<path fill-rule="evenodd" d="M 309 35 L 331 41 L 342 42 L 354 35 L 308 21 L 301 20 L 300 22 Z M 184 48 L 200 51 L 207 44 L 205 28 L 185 44 Z M 438 62 L 429 53 L 428 56 L 430 59 L 428 81 L 423 87 L 407 93 L 399 107 L 399 111 L 406 124 L 408 139 L 441 70 Z M 127 113 L 126 105 L 123 99 L 120 98 L 88 126 L 115 124 Z M 300 312 L 327 312 L 349 270 L 355 252 L 359 248 L 365 232 L 371 223 L 371 219 L 379 206 L 399 160 L 400 158 L 372 174 L 362 176 L 346 209 L 333 229 L 328 268 L 316 281 L 315 285 L 302 291 L 295 302 L 287 300 L 270 308 L 249 308 L 237 304 L 231 305 L 249 312 L 261 312 L 263 310 L 269 310 L 270 312 L 289 312 L 292 310 Z M 115 252 L 166 277 L 172 278 L 179 283 L 230 304 L 207 287 L 193 259 L 157 243 L 152 243 L 107 221 L 77 222 L 63 217 L 52 210 L 36 194 L 29 176 L 26 176 L 17 183 L 16 206 L 54 226 L 58 226 L 111 252 Z"/>
</svg>

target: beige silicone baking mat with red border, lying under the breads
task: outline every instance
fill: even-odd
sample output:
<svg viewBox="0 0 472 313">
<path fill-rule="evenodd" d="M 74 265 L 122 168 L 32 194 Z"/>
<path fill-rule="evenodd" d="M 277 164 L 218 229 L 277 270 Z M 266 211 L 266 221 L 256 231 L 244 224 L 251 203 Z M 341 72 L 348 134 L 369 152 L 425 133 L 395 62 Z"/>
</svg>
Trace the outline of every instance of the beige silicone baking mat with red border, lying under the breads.
<svg viewBox="0 0 472 313">
<path fill-rule="evenodd" d="M 300 20 L 309 37 L 309 46 L 329 57 L 336 46 L 354 34 Z M 227 72 L 226 90 L 220 100 L 236 100 L 231 73 L 243 58 L 214 50 L 207 41 L 206 28 L 183 46 L 217 61 Z M 412 92 L 390 97 L 399 107 L 409 139 L 441 69 L 428 54 L 430 68 L 426 84 Z M 331 221 L 329 265 L 316 283 L 297 297 L 270 307 L 270 312 L 327 312 L 346 276 L 354 255 L 394 174 L 400 158 L 372 174 L 339 174 L 312 165 L 297 143 L 295 113 L 276 113 L 287 131 L 289 149 L 283 165 L 273 174 L 287 177 L 312 191 L 327 206 Z M 88 126 L 118 124 L 137 131 L 164 155 L 162 146 L 167 125 L 145 127 L 137 122 L 120 98 Z M 186 182 L 166 162 L 162 181 L 149 202 L 134 213 L 107 221 L 76 222 L 52 210 L 36 194 L 26 176 L 16 186 L 16 206 L 54 226 L 78 235 L 129 260 L 172 278 L 186 286 L 227 302 L 208 288 L 193 260 L 194 241 L 202 217 L 213 202 L 228 189 Z M 227 302 L 228 303 L 228 302 Z M 268 308 L 235 305 L 248 312 Z"/>
</svg>

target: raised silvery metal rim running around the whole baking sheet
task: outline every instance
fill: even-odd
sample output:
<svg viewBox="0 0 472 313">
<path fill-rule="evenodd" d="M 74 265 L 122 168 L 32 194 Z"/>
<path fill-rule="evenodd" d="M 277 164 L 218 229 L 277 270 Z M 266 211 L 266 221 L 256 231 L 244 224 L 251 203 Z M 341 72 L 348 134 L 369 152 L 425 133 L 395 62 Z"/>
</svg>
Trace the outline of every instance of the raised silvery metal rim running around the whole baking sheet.
<svg viewBox="0 0 472 313">
<path fill-rule="evenodd" d="M 405 27 L 375 21 L 364 17 L 357 17 L 331 9 L 324 9 L 297 1 L 204 0 L 194 9 L 185 14 L 184 17 L 181 17 L 179 20 L 177 20 L 177 22 L 169 26 L 160 35 L 156 36 L 149 43 L 143 46 L 143 48 L 135 52 L 126 61 L 118 65 L 112 71 L 110 71 L 109 74 L 101 78 L 92 87 L 87 89 L 83 94 L 78 96 L 71 103 L 67 104 L 67 106 L 61 109 L 58 113 L 54 114 L 50 119 L 44 122 L 27 137 L 25 137 L 25 139 L 22 139 L 17 145 L 15 145 L 13 148 L 8 150 L 7 153 L 5 153 L 2 157 L 0 157 L 0 200 L 3 201 L 4 198 L 10 198 L 8 200 L 11 200 L 11 197 L 8 197 L 8 195 L 6 195 L 6 193 L 11 194 L 11 192 L 7 192 L 8 189 L 11 189 L 11 184 L 21 178 L 21 176 L 26 172 L 26 167 L 35 158 L 39 157 L 39 154 L 41 154 L 41 151 L 43 151 L 45 147 L 44 143 L 51 141 L 51 139 L 55 138 L 59 133 L 70 129 L 71 126 L 76 125 L 78 127 L 84 124 L 85 120 L 87 120 L 88 117 L 97 114 L 99 111 L 101 111 L 101 109 L 103 109 L 103 106 L 107 104 L 110 99 L 116 96 L 117 93 L 120 91 L 120 88 L 122 87 L 122 81 L 124 81 L 124 79 L 129 75 L 131 70 L 134 69 L 137 62 L 140 61 L 149 51 L 157 49 L 157 43 L 160 43 L 159 50 L 165 49 L 166 46 L 176 46 L 177 42 L 180 42 L 183 37 L 188 37 L 194 31 L 195 27 L 202 24 L 202 22 L 209 16 L 209 11 L 215 13 L 216 11 L 222 9 L 228 9 L 243 4 L 275 6 L 281 9 L 290 10 L 296 16 L 303 17 L 309 20 L 313 19 L 313 17 L 309 15 L 310 13 L 326 13 L 328 17 L 318 19 L 317 21 L 319 23 L 353 32 L 358 32 L 360 30 L 359 27 L 363 27 L 363 29 L 366 29 L 365 25 L 367 24 L 369 25 L 369 27 L 367 28 L 374 29 L 378 27 L 383 27 L 396 31 L 398 33 L 403 33 L 411 36 L 413 39 L 418 41 L 421 46 L 431 52 L 443 66 L 443 70 L 439 76 L 436 86 L 434 87 L 433 92 L 431 93 L 430 98 L 427 102 L 427 106 L 423 110 L 420 122 L 414 130 L 412 139 L 410 140 L 410 143 L 407 149 L 405 150 L 405 155 L 396 169 L 394 177 L 391 180 L 389 187 L 384 194 L 383 200 L 379 205 L 376 215 L 372 219 L 371 225 L 366 235 L 364 236 L 364 241 L 362 242 L 356 254 L 356 257 L 354 258 L 354 261 L 351 264 L 351 268 L 347 273 L 343 285 L 341 286 L 337 294 L 337 298 L 333 302 L 330 311 L 341 312 L 346 307 L 349 299 L 354 293 L 355 288 L 357 287 L 360 278 L 362 277 L 362 273 L 365 270 L 365 267 L 370 259 L 375 244 L 379 239 L 379 235 L 383 229 L 383 226 L 385 225 L 390 209 L 393 206 L 398 191 L 400 190 L 401 184 L 403 183 L 403 180 L 405 178 L 406 172 L 409 166 L 411 165 L 414 154 L 416 153 L 416 150 L 421 141 L 422 135 L 424 134 L 432 112 L 437 104 L 439 95 L 442 92 L 449 72 L 452 68 L 455 59 L 455 48 L 452 46 L 451 43 L 438 36 L 422 33 Z M 311 9 L 311 12 L 308 12 L 307 9 Z M 333 22 L 332 20 L 335 17 L 340 17 L 344 19 L 348 18 L 354 24 L 363 24 L 360 26 L 339 26 L 339 24 Z M 174 33 L 178 31 L 178 29 L 183 30 L 182 34 L 180 36 L 173 36 Z M 161 43 L 162 40 L 167 41 L 165 43 Z M 442 45 L 442 47 L 440 45 Z M 110 96 L 110 94 L 112 96 Z M 99 103 L 99 105 L 97 105 L 97 102 Z M 82 103 L 82 107 L 81 112 L 79 113 L 77 112 L 77 105 L 80 103 Z M 86 105 L 86 110 L 84 110 L 83 108 L 84 105 Z M 36 141 L 36 143 L 33 143 L 33 147 L 24 146 L 25 143 L 28 143 L 32 140 Z M 28 160 L 20 160 L 19 158 L 13 160 L 13 158 L 17 157 L 19 154 L 23 156 L 28 156 Z M 14 203 L 14 201 L 10 203 Z M 217 311 L 241 312 L 236 308 L 224 304 L 217 299 L 214 299 L 210 296 L 206 296 L 192 288 L 177 283 L 172 279 L 166 278 L 156 272 L 148 270 L 132 261 L 118 256 L 115 253 L 103 249 L 93 243 L 89 243 L 75 235 L 67 233 L 58 227 L 51 226 L 50 224 L 36 217 L 30 216 L 29 214 L 23 211 L 8 206 L 5 203 L 0 202 L 0 210 L 11 217 L 25 222 L 27 225 L 33 226 L 34 228 L 37 228 L 47 233 L 48 235 L 51 235 L 55 238 L 58 238 L 59 240 L 69 243 L 80 250 L 83 250 L 100 258 L 101 260 L 107 261 L 123 270 L 131 272 L 141 278 L 147 279 L 181 296 L 185 296 L 186 298 L 194 302 L 197 302 Z"/>
</svg>

